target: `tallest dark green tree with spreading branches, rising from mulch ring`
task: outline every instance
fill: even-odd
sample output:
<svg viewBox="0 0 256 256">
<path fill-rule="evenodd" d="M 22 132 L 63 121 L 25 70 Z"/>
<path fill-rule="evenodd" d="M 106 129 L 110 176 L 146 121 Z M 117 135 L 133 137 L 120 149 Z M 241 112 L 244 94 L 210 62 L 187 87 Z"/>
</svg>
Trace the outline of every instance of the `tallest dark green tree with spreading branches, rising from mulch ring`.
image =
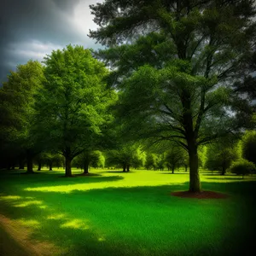
<svg viewBox="0 0 256 256">
<path fill-rule="evenodd" d="M 98 56 L 122 92 L 119 113 L 137 134 L 183 146 L 189 191 L 200 192 L 198 147 L 241 125 L 227 105 L 252 55 L 253 1 L 107 0 L 90 9 L 99 26 L 90 38 L 110 47 Z"/>
</svg>

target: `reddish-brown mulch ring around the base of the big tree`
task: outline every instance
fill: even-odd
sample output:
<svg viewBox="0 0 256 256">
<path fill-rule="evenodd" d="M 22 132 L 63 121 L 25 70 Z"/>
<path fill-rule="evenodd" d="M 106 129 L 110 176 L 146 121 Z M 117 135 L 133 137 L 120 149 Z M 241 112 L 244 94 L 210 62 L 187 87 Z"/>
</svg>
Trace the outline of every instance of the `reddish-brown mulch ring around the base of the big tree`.
<svg viewBox="0 0 256 256">
<path fill-rule="evenodd" d="M 200 193 L 193 193 L 189 191 L 177 191 L 172 192 L 171 195 L 183 197 L 183 198 L 196 198 L 196 199 L 224 199 L 229 197 L 223 193 L 214 191 L 201 191 Z"/>
</svg>

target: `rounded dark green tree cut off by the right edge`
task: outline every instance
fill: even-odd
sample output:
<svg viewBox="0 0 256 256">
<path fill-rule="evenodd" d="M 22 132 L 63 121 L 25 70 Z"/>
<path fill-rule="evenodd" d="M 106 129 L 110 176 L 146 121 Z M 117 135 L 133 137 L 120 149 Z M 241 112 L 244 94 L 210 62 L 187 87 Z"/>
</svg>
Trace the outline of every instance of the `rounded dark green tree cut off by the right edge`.
<svg viewBox="0 0 256 256">
<path fill-rule="evenodd" d="M 242 156 L 256 165 L 256 131 L 247 131 L 241 138 Z"/>
</svg>

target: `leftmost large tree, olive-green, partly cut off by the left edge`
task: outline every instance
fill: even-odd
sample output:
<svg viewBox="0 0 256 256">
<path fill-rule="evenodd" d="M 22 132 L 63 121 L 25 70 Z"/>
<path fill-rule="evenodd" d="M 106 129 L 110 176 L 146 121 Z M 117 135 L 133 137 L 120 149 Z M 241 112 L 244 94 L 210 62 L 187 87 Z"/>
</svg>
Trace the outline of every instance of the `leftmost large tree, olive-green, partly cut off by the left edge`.
<svg viewBox="0 0 256 256">
<path fill-rule="evenodd" d="M 22 158 L 26 152 L 27 172 L 32 173 L 32 159 L 41 150 L 34 132 L 34 94 L 44 81 L 44 68 L 38 61 L 18 65 L 0 89 L 1 135 L 10 156 Z M 15 155 L 16 153 L 16 155 Z"/>
</svg>

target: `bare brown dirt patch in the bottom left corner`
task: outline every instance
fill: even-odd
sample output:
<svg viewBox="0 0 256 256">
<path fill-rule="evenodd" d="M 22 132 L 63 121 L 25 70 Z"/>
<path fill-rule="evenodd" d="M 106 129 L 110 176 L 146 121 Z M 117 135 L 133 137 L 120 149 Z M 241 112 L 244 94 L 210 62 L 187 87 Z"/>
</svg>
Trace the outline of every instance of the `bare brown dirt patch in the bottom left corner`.
<svg viewBox="0 0 256 256">
<path fill-rule="evenodd" d="M 61 248 L 56 247 L 49 241 L 31 240 L 32 229 L 20 225 L 17 220 L 11 220 L 0 214 L 0 225 L 9 235 L 10 239 L 13 239 L 24 250 L 27 256 L 49 256 L 61 253 Z M 14 253 L 13 250 L 12 252 L 8 252 L 9 255 L 15 255 L 12 254 Z"/>
</svg>

